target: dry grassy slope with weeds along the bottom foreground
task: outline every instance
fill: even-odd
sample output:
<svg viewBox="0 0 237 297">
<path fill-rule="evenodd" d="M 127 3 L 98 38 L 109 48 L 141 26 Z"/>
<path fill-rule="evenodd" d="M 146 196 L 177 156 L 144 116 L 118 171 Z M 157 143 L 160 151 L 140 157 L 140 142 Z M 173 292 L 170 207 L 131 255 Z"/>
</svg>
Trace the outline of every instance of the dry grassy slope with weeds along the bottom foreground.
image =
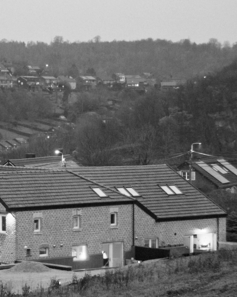
<svg viewBox="0 0 237 297">
<path fill-rule="evenodd" d="M 237 252 L 233 251 L 220 250 L 166 261 L 148 261 L 104 272 L 101 275 L 93 271 L 94 275 L 86 273 L 83 276 L 66 271 L 64 273 L 71 273 L 66 285 L 60 286 L 59 276 L 55 275 L 48 280 L 47 288 L 40 284 L 40 278 L 48 272 L 41 272 L 38 273 L 38 286 L 33 293 L 28 282 L 22 283 L 19 293 L 24 297 L 234 297 L 237 292 Z M 8 284 L 8 289 L 2 286 L 0 297 L 12 297 L 11 285 Z"/>
</svg>

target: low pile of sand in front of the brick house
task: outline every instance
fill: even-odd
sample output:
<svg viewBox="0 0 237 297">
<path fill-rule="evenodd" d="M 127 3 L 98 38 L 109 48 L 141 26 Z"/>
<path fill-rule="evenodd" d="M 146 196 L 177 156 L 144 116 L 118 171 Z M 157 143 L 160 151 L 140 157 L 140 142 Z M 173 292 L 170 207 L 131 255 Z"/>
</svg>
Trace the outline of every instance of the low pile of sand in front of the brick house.
<svg viewBox="0 0 237 297">
<path fill-rule="evenodd" d="M 49 271 L 50 268 L 44 266 L 39 262 L 31 262 L 31 261 L 22 261 L 21 263 L 17 263 L 12 268 L 7 269 L 9 272 L 46 272 Z"/>
</svg>

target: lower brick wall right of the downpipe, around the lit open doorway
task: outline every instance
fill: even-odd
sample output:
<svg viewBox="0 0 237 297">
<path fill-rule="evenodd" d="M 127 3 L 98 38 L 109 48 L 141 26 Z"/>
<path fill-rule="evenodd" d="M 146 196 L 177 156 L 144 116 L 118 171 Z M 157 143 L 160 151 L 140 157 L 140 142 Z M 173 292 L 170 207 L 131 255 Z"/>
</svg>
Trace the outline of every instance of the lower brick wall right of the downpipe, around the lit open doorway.
<svg viewBox="0 0 237 297">
<path fill-rule="evenodd" d="M 141 220 L 142 218 L 142 220 Z M 142 222 L 142 224 L 141 224 Z M 219 218 L 219 241 L 226 240 L 226 219 Z M 156 222 L 135 206 L 135 245 L 144 246 L 144 236 L 158 237 L 158 246 L 168 244 L 184 244 L 184 235 L 196 234 L 198 229 L 206 229 L 206 233 L 217 232 L 217 218 L 188 219 L 167 222 Z M 176 235 L 174 235 L 176 233 Z M 217 239 L 217 237 L 216 237 Z M 216 242 L 217 246 L 217 242 Z"/>
</svg>

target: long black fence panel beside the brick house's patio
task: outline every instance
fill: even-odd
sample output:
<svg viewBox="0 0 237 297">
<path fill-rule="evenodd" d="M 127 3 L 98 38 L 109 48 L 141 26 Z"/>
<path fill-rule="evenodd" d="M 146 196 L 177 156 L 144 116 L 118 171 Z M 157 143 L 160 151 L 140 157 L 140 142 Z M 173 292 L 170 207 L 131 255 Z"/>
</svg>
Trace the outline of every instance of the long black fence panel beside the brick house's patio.
<svg viewBox="0 0 237 297">
<path fill-rule="evenodd" d="M 146 261 L 152 259 L 166 258 L 170 255 L 169 249 L 153 249 L 150 247 L 137 247 L 134 246 L 134 259 Z"/>
</svg>

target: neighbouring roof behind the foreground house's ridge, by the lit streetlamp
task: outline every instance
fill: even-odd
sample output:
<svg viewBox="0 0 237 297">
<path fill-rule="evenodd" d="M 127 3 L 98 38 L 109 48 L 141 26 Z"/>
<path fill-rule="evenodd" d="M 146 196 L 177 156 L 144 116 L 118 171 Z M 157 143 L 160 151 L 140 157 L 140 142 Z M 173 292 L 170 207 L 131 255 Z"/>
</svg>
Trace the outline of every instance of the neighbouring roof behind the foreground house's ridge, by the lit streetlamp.
<svg viewBox="0 0 237 297">
<path fill-rule="evenodd" d="M 66 168 L 74 170 L 79 167 L 76 159 L 71 155 L 63 155 L 66 160 Z M 50 156 L 50 157 L 38 157 L 38 158 L 26 158 L 26 159 L 10 159 L 5 162 L 1 162 L 1 165 L 13 165 L 22 167 L 39 167 L 39 168 L 62 168 L 62 156 Z"/>
</svg>

